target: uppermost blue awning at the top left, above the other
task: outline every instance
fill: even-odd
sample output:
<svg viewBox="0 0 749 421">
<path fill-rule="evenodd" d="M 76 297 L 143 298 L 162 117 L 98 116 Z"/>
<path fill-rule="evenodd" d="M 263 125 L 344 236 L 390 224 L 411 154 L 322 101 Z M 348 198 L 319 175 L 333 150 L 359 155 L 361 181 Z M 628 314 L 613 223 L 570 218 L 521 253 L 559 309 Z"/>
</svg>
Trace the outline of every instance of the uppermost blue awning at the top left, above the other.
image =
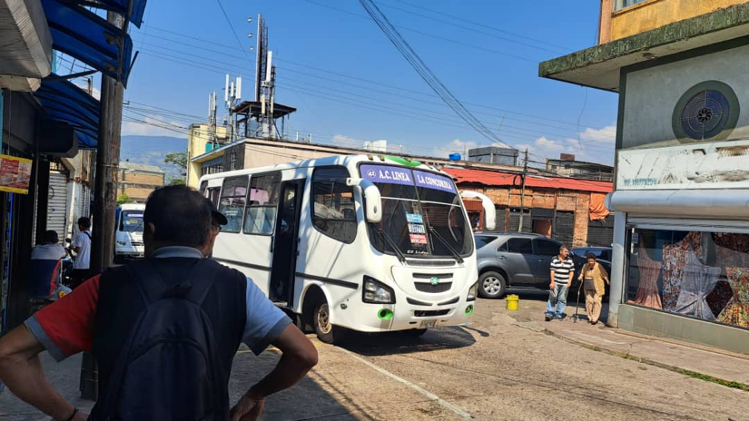
<svg viewBox="0 0 749 421">
<path fill-rule="evenodd" d="M 111 1 L 121 3 L 127 0 Z M 145 0 L 141 2 L 145 7 Z M 52 34 L 52 48 L 77 58 L 127 86 L 133 54 L 130 35 L 76 4 L 42 0 L 42 6 Z"/>
</svg>

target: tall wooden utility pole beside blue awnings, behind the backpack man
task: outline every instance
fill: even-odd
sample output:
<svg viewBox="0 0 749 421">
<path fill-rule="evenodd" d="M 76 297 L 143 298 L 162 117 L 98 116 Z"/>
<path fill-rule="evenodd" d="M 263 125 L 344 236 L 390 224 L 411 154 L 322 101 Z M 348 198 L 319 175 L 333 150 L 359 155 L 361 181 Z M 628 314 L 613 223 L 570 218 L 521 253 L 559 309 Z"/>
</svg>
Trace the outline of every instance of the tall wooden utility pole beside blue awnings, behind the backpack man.
<svg viewBox="0 0 749 421">
<path fill-rule="evenodd" d="M 114 12 L 106 13 L 106 20 L 118 28 L 127 22 Z M 91 274 L 100 274 L 112 265 L 115 248 L 115 208 L 117 207 L 117 167 L 120 162 L 120 130 L 122 128 L 122 99 L 124 86 L 109 76 L 101 76 L 101 117 L 97 145 L 97 165 L 94 179 L 94 228 L 91 234 Z M 99 369 L 94 356 L 83 354 L 81 364 L 81 397 L 96 400 Z"/>
</svg>

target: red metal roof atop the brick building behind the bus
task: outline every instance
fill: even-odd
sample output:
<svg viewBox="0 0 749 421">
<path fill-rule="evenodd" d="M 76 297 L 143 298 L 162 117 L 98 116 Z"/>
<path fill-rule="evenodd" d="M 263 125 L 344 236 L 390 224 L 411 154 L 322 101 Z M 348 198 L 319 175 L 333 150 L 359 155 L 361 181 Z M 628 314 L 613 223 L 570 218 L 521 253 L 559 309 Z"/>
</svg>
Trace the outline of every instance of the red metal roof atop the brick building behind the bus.
<svg viewBox="0 0 749 421">
<path fill-rule="evenodd" d="M 469 170 L 466 168 L 442 168 L 455 178 L 455 182 L 475 182 L 483 185 L 515 185 L 520 186 L 520 174 L 502 173 L 500 171 Z M 527 187 L 560 188 L 563 190 L 595 191 L 596 193 L 610 193 L 613 182 L 595 181 L 589 179 L 571 179 L 554 176 L 533 176 L 525 179 Z"/>
</svg>

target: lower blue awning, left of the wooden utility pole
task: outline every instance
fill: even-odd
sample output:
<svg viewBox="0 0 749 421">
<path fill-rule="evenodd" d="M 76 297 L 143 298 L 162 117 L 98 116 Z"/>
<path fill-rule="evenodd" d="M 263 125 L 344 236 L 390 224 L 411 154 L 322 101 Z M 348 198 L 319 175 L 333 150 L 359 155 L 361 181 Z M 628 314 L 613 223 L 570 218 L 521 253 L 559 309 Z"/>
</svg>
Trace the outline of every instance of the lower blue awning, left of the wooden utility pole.
<svg viewBox="0 0 749 421">
<path fill-rule="evenodd" d="M 50 120 L 75 130 L 79 148 L 97 147 L 100 105 L 93 96 L 67 80 L 42 81 L 34 96 Z"/>
</svg>

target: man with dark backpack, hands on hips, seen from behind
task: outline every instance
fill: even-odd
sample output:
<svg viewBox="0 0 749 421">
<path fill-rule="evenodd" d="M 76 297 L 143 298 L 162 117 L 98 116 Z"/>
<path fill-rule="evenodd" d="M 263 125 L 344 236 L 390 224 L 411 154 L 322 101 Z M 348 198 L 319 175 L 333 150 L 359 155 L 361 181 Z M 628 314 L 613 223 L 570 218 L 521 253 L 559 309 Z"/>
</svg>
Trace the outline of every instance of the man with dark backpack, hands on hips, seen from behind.
<svg viewBox="0 0 749 421">
<path fill-rule="evenodd" d="M 256 420 L 264 399 L 300 381 L 312 342 L 251 280 L 206 259 L 224 215 L 184 185 L 160 188 L 144 213 L 147 258 L 108 268 L 0 339 L 0 379 L 55 420 Z M 240 342 L 278 365 L 229 410 Z M 91 417 L 44 377 L 38 354 L 90 350 L 99 363 Z"/>
</svg>

